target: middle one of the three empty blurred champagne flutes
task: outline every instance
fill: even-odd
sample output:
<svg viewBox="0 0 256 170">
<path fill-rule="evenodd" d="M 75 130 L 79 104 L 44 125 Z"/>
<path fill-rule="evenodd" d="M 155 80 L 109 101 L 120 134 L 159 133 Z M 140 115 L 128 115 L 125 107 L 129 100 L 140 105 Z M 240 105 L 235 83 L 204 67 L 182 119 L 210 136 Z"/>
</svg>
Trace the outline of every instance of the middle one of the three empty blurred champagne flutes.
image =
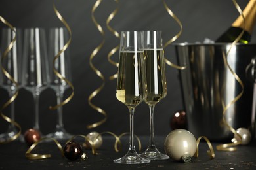
<svg viewBox="0 0 256 170">
<path fill-rule="evenodd" d="M 39 127 L 39 96 L 49 84 L 49 69 L 45 30 L 27 28 L 24 30 L 24 53 L 22 68 L 22 85 L 33 94 L 34 124 L 33 129 L 40 132 Z"/>
</svg>

